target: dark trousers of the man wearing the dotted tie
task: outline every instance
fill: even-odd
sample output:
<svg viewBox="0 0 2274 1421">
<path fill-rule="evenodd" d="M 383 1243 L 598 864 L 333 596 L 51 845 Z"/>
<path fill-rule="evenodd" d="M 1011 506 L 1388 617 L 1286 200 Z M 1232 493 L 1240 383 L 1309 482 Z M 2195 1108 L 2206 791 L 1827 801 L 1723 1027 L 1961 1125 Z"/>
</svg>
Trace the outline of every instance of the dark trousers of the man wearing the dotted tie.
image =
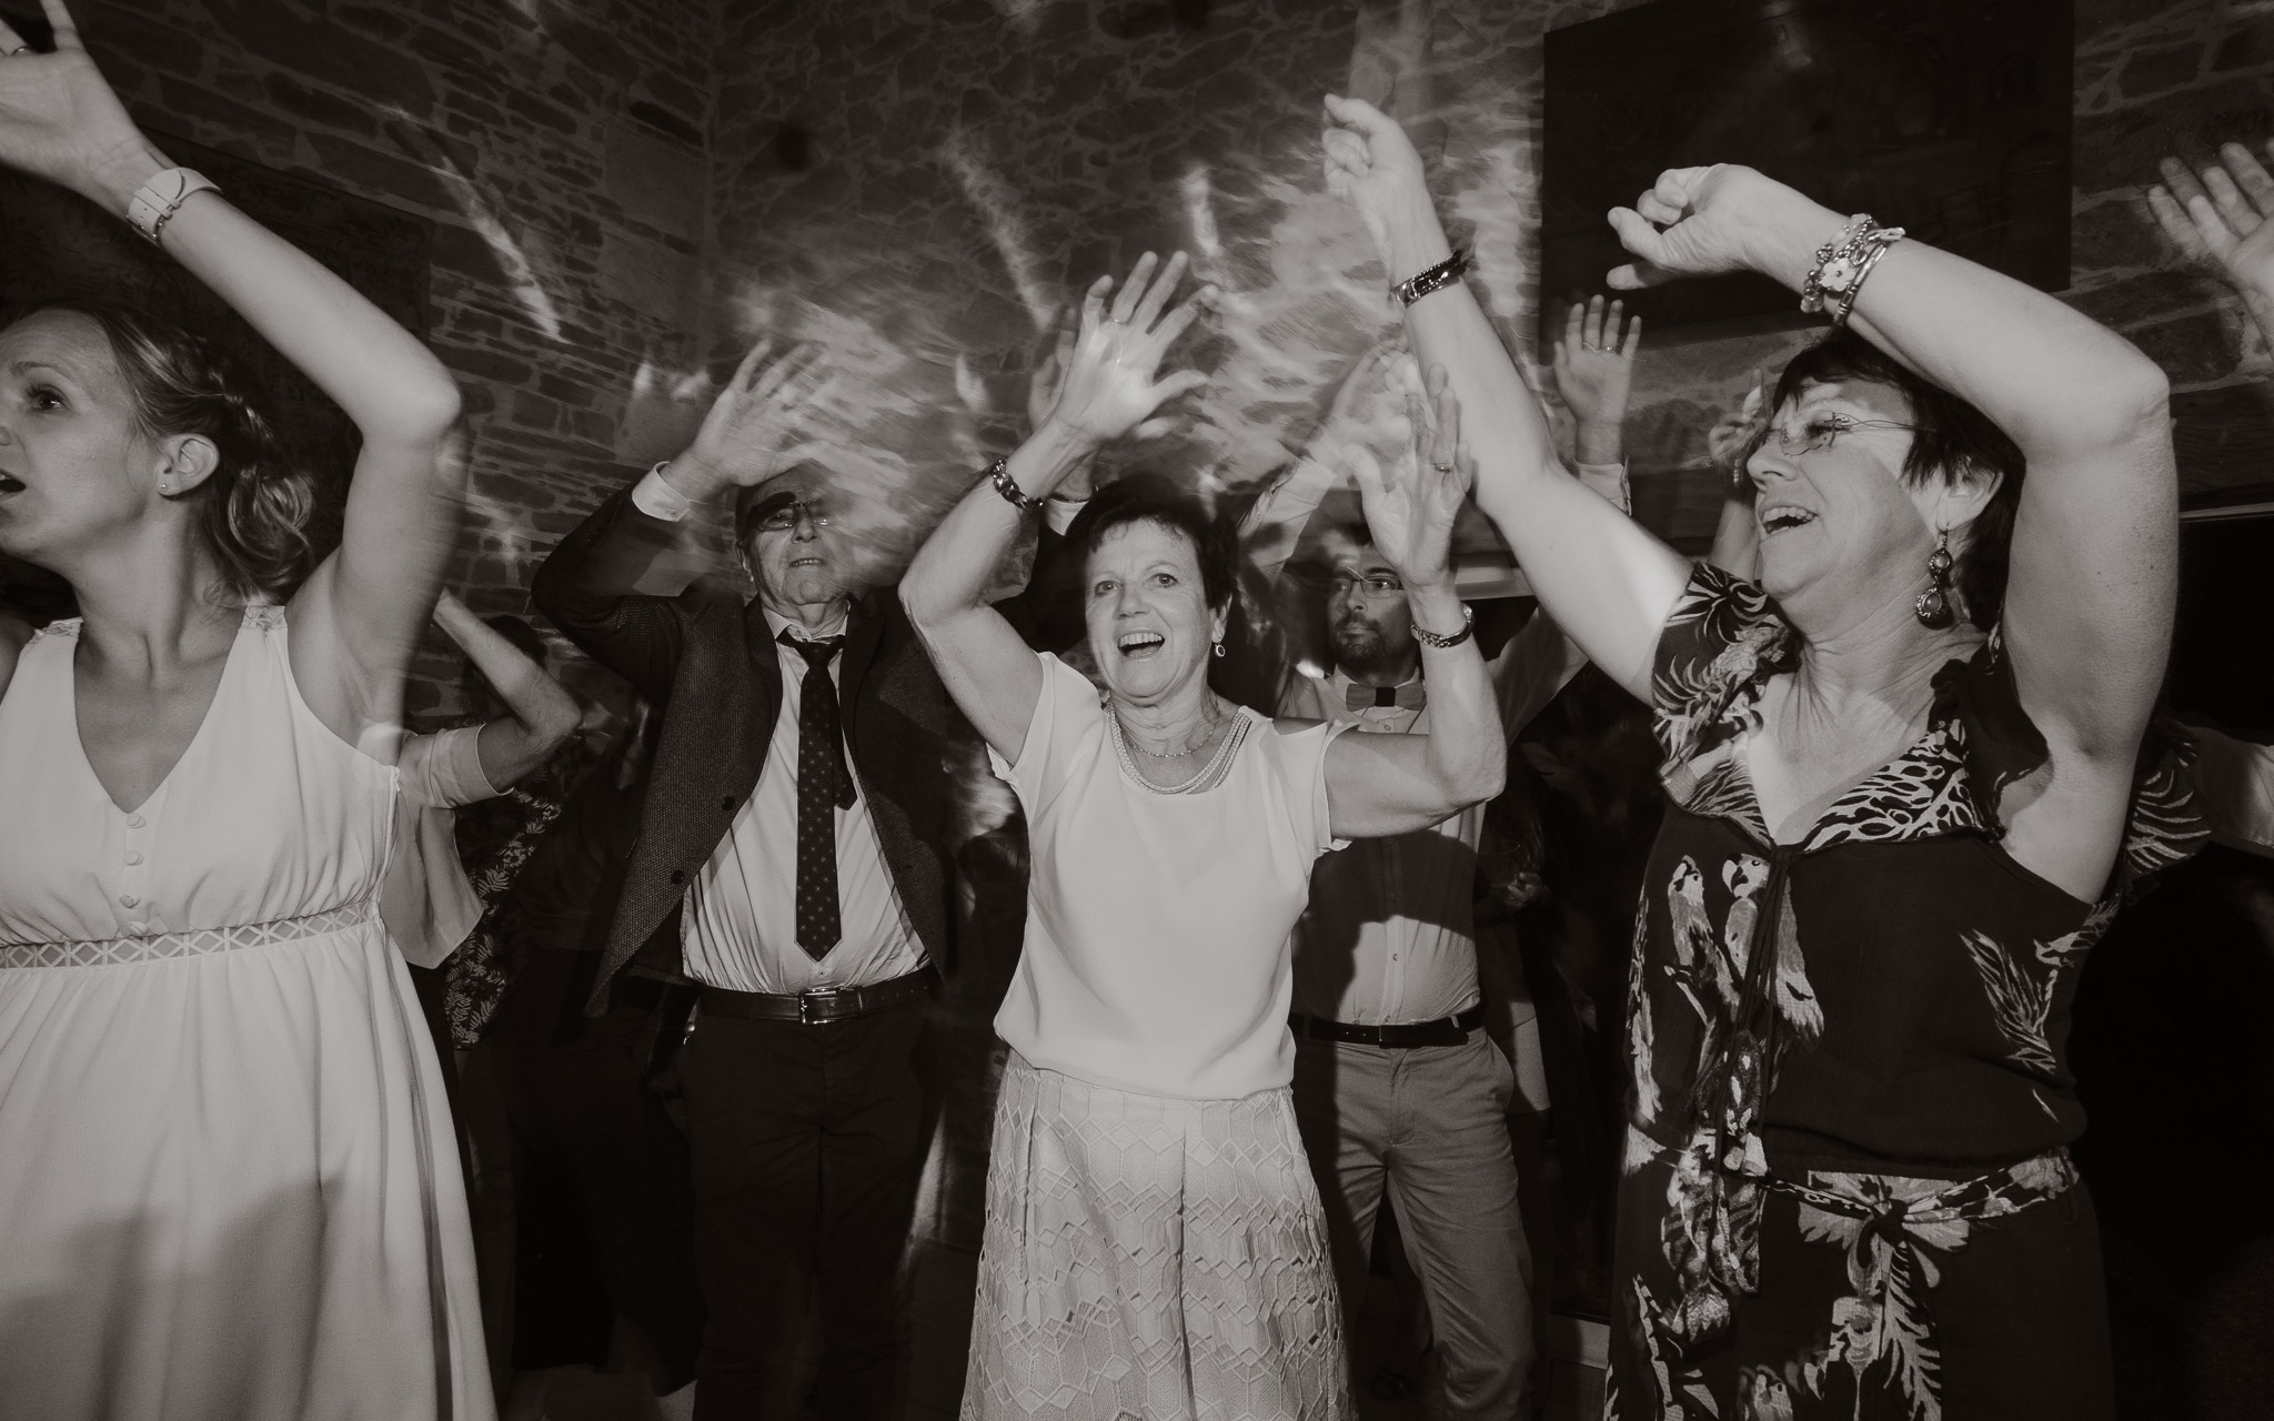
<svg viewBox="0 0 2274 1421">
<path fill-rule="evenodd" d="M 887 1416 L 923 1166 L 923 1005 L 800 1025 L 698 1016 L 680 1057 L 709 1326 L 698 1421 Z M 819 1326 L 819 1337 L 814 1337 Z"/>
</svg>

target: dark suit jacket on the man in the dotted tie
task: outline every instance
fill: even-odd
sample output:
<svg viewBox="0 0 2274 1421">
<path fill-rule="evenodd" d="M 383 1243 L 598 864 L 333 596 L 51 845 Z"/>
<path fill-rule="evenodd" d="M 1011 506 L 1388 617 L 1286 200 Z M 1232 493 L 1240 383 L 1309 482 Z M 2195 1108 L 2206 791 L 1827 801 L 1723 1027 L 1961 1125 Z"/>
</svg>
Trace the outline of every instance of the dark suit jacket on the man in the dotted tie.
<svg viewBox="0 0 2274 1421">
<path fill-rule="evenodd" d="M 650 966 L 682 971 L 678 934 L 659 928 L 757 787 L 773 718 L 796 714 L 782 707 L 782 668 L 757 603 L 744 605 L 709 582 L 675 598 L 623 591 L 673 532 L 632 507 L 630 487 L 619 489 L 559 541 L 530 584 L 537 607 L 571 641 L 639 687 L 664 716 L 639 841 L 587 1012 L 605 1009 L 609 982 L 644 946 Z M 837 682 L 848 759 L 885 866 L 932 962 L 953 971 L 955 787 L 944 750 L 960 721 L 896 589 L 855 598 Z"/>
</svg>

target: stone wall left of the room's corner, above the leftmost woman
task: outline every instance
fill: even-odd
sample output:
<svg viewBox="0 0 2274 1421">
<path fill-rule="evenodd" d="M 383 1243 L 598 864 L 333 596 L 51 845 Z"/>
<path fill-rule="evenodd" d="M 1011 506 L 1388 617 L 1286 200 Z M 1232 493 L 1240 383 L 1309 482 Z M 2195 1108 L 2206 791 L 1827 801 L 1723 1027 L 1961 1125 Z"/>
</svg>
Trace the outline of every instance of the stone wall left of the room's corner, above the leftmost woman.
<svg viewBox="0 0 2274 1421">
<path fill-rule="evenodd" d="M 475 437 L 453 580 L 475 609 L 523 612 L 537 557 L 655 443 L 634 391 L 696 346 L 712 0 L 77 14 L 146 125 L 434 221 L 428 334 Z M 457 707 L 441 646 L 414 714 Z"/>
</svg>

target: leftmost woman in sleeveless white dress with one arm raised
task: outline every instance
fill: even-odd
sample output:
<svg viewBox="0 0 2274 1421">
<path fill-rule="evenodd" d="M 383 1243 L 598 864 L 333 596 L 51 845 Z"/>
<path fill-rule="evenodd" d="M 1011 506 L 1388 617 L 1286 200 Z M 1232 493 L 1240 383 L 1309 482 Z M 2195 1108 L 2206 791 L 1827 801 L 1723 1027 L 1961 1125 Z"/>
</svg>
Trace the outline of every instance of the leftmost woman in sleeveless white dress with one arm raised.
<svg viewBox="0 0 2274 1421">
<path fill-rule="evenodd" d="M 491 1416 L 432 1041 L 377 921 L 459 477 L 441 364 L 136 132 L 45 0 L 0 164 L 134 221 L 362 430 L 343 541 L 202 341 L 0 330 L 0 1416 Z"/>
</svg>

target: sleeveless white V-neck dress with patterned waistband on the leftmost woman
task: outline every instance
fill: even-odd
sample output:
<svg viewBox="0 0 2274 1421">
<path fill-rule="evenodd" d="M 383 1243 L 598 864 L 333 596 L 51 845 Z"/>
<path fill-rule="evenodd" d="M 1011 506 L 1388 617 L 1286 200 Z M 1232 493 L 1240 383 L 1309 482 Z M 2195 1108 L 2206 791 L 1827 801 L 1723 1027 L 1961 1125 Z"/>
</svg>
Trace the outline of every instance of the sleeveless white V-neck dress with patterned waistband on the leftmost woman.
<svg viewBox="0 0 2274 1421">
<path fill-rule="evenodd" d="M 121 809 L 77 632 L 0 698 L 0 1416 L 489 1421 L 441 1071 L 377 919 L 396 771 L 248 607 Z"/>
</svg>

